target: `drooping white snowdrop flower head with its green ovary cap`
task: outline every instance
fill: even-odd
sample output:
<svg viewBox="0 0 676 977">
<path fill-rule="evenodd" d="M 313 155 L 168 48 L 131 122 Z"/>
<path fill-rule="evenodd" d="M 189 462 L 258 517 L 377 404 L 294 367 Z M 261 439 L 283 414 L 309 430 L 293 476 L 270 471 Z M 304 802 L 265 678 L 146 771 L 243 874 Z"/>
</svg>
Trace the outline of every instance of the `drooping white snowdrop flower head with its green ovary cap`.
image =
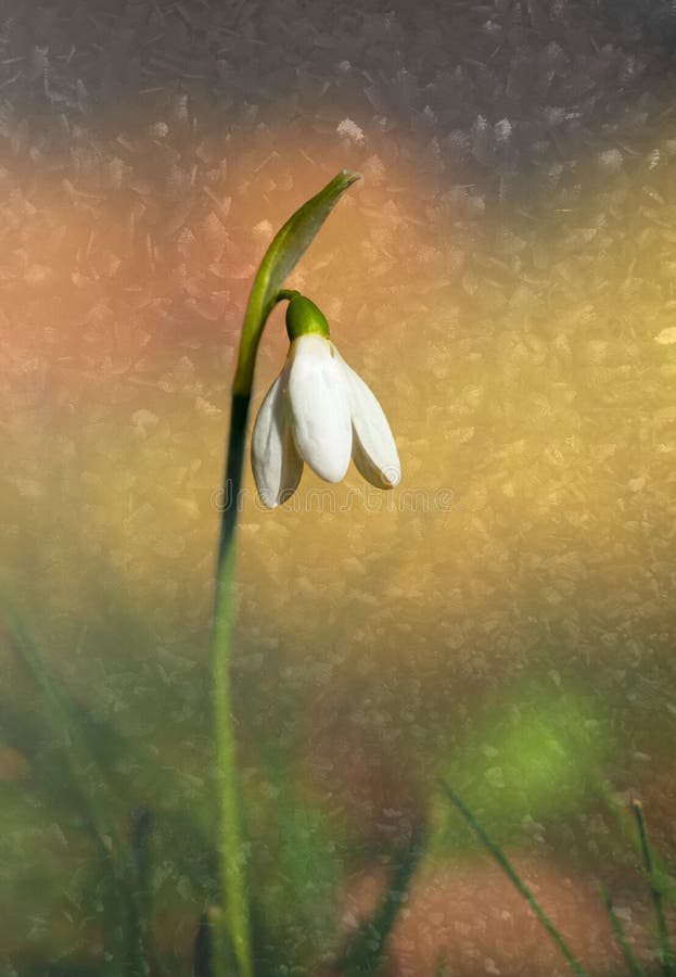
<svg viewBox="0 0 676 977">
<path fill-rule="evenodd" d="M 273 508 L 290 498 L 305 461 L 327 482 L 340 482 L 352 457 L 372 485 L 393 488 L 401 469 L 387 419 L 329 339 L 322 313 L 295 294 L 286 331 L 286 363 L 260 406 L 252 439 L 263 503 Z"/>
</svg>

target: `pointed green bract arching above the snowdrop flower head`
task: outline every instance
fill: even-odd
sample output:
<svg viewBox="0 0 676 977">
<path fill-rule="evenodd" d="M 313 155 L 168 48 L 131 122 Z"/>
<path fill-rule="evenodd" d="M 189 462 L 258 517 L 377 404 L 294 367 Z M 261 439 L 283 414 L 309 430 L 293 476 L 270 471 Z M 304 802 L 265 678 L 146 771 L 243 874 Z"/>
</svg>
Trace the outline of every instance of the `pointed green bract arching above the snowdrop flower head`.
<svg viewBox="0 0 676 977">
<path fill-rule="evenodd" d="M 304 203 L 275 236 L 248 296 L 233 383 L 235 394 L 247 396 L 251 393 L 256 350 L 266 319 L 278 301 L 278 292 L 341 195 L 358 179 L 358 173 L 341 170 L 323 190 Z"/>
</svg>

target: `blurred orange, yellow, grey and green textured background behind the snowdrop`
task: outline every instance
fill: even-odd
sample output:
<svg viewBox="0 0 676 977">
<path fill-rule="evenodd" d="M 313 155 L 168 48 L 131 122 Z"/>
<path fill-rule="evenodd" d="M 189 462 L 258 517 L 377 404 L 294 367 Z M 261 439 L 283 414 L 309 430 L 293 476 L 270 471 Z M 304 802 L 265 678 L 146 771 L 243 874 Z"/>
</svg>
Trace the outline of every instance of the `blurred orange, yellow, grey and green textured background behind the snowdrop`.
<svg viewBox="0 0 676 977">
<path fill-rule="evenodd" d="M 335 973 L 424 824 L 388 977 L 567 973 L 445 778 L 590 973 L 624 973 L 599 883 L 656 973 L 622 819 L 639 797 L 674 868 L 673 4 L 0 14 L 0 973 L 136 973 L 126 849 L 152 973 L 191 973 L 217 901 L 239 329 L 273 233 L 343 167 L 362 180 L 289 284 L 381 401 L 404 480 L 380 495 L 350 469 L 326 493 L 306 469 L 270 512 L 246 472 L 233 681 L 260 972 Z"/>
</svg>

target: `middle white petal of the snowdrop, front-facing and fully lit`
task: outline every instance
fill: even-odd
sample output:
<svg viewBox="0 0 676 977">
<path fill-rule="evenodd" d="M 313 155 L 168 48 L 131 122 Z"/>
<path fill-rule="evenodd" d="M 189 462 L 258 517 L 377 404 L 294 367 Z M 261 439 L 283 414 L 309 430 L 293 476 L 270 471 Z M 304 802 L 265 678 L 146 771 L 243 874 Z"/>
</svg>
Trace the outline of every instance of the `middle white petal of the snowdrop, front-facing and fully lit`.
<svg viewBox="0 0 676 977">
<path fill-rule="evenodd" d="M 289 354 L 289 407 L 298 454 L 327 482 L 345 477 L 352 424 L 345 375 L 321 335 L 301 335 Z"/>
</svg>

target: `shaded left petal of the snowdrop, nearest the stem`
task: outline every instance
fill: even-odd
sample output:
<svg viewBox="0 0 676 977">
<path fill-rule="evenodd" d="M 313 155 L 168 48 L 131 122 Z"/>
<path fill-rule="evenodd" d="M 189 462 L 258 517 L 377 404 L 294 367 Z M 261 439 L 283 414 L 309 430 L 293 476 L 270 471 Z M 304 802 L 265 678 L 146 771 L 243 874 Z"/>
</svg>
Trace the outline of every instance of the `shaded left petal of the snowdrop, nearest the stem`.
<svg viewBox="0 0 676 977">
<path fill-rule="evenodd" d="M 288 381 L 286 365 L 260 405 L 251 442 L 256 488 L 263 504 L 270 509 L 293 495 L 303 474 L 303 461 L 293 443 L 286 409 Z"/>
</svg>

